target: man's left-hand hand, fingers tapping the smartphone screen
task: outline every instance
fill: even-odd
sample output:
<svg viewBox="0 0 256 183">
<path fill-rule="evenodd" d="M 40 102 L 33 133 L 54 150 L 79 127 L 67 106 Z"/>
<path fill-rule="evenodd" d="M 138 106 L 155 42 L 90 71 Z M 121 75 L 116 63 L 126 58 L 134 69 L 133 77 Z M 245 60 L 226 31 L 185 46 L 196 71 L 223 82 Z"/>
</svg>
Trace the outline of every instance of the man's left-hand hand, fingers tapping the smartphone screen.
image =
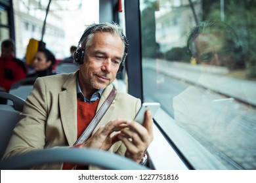
<svg viewBox="0 0 256 183">
<path fill-rule="evenodd" d="M 127 123 L 128 122 L 125 120 L 117 119 L 104 126 L 101 126 L 95 134 L 93 134 L 85 143 L 83 143 L 82 147 L 109 150 L 115 142 L 119 141 L 117 138 L 119 133 L 113 137 L 110 137 L 111 133 L 114 131 L 120 131 L 121 129 L 127 127 Z"/>
</svg>

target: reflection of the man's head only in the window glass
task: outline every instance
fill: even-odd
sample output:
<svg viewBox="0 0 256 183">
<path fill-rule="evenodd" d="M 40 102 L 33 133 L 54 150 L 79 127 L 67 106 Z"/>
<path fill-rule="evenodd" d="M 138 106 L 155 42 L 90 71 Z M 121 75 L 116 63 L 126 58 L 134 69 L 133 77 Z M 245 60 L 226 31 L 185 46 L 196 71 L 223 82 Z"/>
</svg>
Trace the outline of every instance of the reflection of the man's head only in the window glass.
<svg viewBox="0 0 256 183">
<path fill-rule="evenodd" d="M 242 62 L 242 47 L 235 31 L 223 22 L 201 22 L 192 29 L 188 50 L 197 63 L 236 69 Z"/>
</svg>

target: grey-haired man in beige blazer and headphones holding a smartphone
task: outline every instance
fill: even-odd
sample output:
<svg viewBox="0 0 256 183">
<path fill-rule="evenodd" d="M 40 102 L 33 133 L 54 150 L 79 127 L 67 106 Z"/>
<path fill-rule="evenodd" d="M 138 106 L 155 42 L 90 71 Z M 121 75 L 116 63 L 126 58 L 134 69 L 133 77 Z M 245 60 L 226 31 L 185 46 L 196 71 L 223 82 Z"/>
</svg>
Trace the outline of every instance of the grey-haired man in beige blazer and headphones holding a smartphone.
<svg viewBox="0 0 256 183">
<path fill-rule="evenodd" d="M 4 158 L 31 150 L 74 146 L 84 129 L 110 93 L 112 82 L 121 73 L 127 41 L 116 24 L 92 24 L 83 33 L 75 61 L 75 73 L 37 78 L 16 125 Z M 153 140 L 152 116 L 145 113 L 144 124 L 132 122 L 141 101 L 116 91 L 110 107 L 89 139 L 76 148 L 108 150 L 137 163 L 144 163 Z M 43 165 L 40 169 L 73 169 L 75 165 Z M 36 169 L 38 169 L 37 167 Z M 83 169 L 87 167 L 79 167 Z M 89 167 L 93 169 L 96 167 Z"/>
</svg>

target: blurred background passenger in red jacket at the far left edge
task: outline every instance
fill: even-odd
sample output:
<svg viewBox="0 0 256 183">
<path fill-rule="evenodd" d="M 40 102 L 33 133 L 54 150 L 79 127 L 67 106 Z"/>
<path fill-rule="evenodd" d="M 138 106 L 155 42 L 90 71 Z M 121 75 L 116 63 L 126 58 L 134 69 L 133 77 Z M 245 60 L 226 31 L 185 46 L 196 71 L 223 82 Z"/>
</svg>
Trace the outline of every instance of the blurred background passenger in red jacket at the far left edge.
<svg viewBox="0 0 256 183">
<path fill-rule="evenodd" d="M 1 43 L 0 88 L 9 92 L 12 84 L 26 78 L 26 64 L 14 57 L 14 41 L 7 39 Z"/>
</svg>

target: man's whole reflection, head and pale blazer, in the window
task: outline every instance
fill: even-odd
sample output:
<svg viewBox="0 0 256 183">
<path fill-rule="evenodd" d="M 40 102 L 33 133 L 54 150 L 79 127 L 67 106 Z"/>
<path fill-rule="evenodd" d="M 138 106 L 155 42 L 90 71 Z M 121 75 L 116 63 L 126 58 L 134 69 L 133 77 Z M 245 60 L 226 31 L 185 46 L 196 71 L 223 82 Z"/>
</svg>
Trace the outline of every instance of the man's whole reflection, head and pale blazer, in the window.
<svg viewBox="0 0 256 183">
<path fill-rule="evenodd" d="M 233 29 L 223 22 L 201 22 L 192 29 L 187 47 L 198 66 L 208 69 L 201 69 L 198 81 L 173 98 L 174 117 L 175 122 L 207 147 L 211 154 L 225 159 L 222 160 L 224 165 L 232 165 L 228 168 L 255 169 L 256 165 L 245 163 L 242 158 L 247 156 L 255 160 L 256 131 L 251 125 L 253 117 L 249 117 L 254 116 L 255 110 L 216 92 L 223 82 L 229 84 L 228 79 L 209 73 L 209 68 L 218 66 L 238 67 L 242 58 L 242 48 L 238 43 Z M 239 86 L 232 89 L 235 87 Z"/>
</svg>

